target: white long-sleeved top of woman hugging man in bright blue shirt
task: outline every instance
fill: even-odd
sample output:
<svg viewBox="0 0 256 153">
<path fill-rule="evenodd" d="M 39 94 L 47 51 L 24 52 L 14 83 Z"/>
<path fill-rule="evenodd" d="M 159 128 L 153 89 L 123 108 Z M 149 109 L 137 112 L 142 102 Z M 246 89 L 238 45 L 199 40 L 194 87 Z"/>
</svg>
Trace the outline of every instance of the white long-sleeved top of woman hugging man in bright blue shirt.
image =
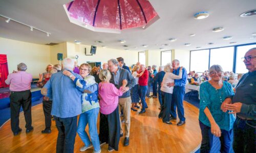
<svg viewBox="0 0 256 153">
<path fill-rule="evenodd" d="M 167 83 L 174 83 L 174 79 L 181 79 L 181 78 L 182 78 L 182 69 L 180 69 L 179 75 L 175 75 L 174 73 L 171 73 L 171 72 L 166 72 L 164 74 L 162 87 L 160 90 L 166 93 L 173 93 L 174 86 L 168 87 Z"/>
</svg>

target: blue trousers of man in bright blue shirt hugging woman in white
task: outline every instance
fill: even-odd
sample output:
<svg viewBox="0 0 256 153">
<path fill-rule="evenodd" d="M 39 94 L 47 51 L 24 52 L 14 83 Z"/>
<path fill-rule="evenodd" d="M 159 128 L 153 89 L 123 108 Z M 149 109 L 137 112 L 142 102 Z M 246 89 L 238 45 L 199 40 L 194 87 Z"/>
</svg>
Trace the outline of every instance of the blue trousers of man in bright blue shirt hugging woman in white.
<svg viewBox="0 0 256 153">
<path fill-rule="evenodd" d="M 178 111 L 178 116 L 180 121 L 185 121 L 184 117 L 184 108 L 183 108 L 183 99 L 185 95 L 185 87 L 174 86 L 172 104 L 170 105 L 170 115 L 177 117 L 176 106 Z"/>
</svg>

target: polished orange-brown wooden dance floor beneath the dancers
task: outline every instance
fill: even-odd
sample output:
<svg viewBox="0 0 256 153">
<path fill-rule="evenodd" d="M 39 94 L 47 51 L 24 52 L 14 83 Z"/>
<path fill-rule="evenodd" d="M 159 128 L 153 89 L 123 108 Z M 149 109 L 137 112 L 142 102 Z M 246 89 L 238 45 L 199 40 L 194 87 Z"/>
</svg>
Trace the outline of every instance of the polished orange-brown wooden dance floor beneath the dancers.
<svg viewBox="0 0 256 153">
<path fill-rule="evenodd" d="M 172 120 L 173 124 L 168 125 L 158 118 L 158 98 L 147 98 L 146 100 L 148 104 L 146 113 L 138 115 L 139 111 L 131 112 L 130 145 L 124 147 L 124 137 L 121 137 L 118 152 L 191 152 L 198 147 L 202 139 L 198 121 L 198 108 L 184 101 L 186 124 L 177 126 L 178 120 Z M 32 107 L 34 131 L 31 133 L 26 134 L 23 112 L 20 113 L 19 118 L 19 126 L 23 129 L 19 135 L 13 136 L 10 120 L 1 127 L 0 152 L 56 151 L 58 131 L 55 122 L 52 122 L 51 134 L 41 134 L 41 130 L 45 128 L 42 104 Z M 124 127 L 124 123 L 122 125 Z M 88 126 L 86 131 L 88 132 Z M 82 145 L 83 142 L 76 135 L 74 152 L 80 152 L 79 149 Z M 108 145 L 104 144 L 101 151 L 108 152 Z M 93 148 L 84 152 L 93 152 Z"/>
</svg>

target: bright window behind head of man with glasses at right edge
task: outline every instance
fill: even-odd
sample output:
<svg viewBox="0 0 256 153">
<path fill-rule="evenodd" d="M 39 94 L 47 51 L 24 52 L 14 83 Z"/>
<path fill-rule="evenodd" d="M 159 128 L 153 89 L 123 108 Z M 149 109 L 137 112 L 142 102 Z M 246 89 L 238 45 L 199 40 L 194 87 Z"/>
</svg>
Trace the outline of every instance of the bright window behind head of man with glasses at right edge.
<svg viewBox="0 0 256 153">
<path fill-rule="evenodd" d="M 246 45 L 246 46 L 238 46 L 237 47 L 237 59 L 236 59 L 236 73 L 247 73 L 243 60 L 241 58 L 244 57 L 245 53 L 250 49 L 256 47 L 256 44 Z"/>
</svg>

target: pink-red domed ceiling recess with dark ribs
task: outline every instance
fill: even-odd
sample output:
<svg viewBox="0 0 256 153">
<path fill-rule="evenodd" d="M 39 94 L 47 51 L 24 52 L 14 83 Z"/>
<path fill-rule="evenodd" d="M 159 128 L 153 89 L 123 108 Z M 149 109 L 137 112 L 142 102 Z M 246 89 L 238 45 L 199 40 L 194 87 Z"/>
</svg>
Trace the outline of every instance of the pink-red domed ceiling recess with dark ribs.
<svg viewBox="0 0 256 153">
<path fill-rule="evenodd" d="M 74 0 L 64 8 L 71 22 L 98 32 L 145 28 L 159 19 L 147 0 Z"/>
</svg>

